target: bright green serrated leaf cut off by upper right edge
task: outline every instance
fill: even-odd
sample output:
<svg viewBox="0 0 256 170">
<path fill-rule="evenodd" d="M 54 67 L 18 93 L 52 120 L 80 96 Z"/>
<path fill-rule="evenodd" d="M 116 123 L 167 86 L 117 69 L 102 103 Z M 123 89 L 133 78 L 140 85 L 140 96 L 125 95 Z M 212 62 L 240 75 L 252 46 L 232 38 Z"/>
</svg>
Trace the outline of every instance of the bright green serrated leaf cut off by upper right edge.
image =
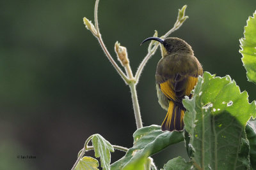
<svg viewBox="0 0 256 170">
<path fill-rule="evenodd" d="M 249 17 L 244 27 L 244 38 L 240 39 L 239 52 L 243 55 L 242 61 L 247 71 L 248 81 L 256 83 L 256 11 Z"/>
</svg>

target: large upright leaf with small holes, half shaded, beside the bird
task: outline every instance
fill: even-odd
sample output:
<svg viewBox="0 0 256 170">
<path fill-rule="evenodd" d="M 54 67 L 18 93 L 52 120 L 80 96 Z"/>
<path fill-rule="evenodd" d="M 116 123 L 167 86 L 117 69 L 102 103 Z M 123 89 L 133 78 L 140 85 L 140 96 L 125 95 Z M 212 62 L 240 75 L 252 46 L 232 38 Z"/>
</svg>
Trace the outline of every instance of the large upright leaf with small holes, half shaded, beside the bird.
<svg viewBox="0 0 256 170">
<path fill-rule="evenodd" d="M 244 131 L 256 116 L 255 102 L 248 103 L 230 76 L 215 77 L 205 72 L 198 78 L 193 98 L 183 100 L 187 109 L 185 129 L 195 166 L 202 169 L 247 169 L 248 141 Z M 242 139 L 243 138 L 243 139 Z"/>
</svg>

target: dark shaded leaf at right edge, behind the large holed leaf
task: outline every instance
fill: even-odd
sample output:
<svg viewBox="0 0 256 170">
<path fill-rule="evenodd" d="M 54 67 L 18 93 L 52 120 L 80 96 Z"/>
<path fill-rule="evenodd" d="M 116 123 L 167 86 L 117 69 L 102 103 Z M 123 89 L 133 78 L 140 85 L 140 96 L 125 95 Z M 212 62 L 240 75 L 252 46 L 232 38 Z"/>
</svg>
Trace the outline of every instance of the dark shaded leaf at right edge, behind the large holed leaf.
<svg viewBox="0 0 256 170">
<path fill-rule="evenodd" d="M 250 162 L 253 169 L 256 169 L 256 119 L 247 122 L 246 136 L 250 142 Z"/>
</svg>

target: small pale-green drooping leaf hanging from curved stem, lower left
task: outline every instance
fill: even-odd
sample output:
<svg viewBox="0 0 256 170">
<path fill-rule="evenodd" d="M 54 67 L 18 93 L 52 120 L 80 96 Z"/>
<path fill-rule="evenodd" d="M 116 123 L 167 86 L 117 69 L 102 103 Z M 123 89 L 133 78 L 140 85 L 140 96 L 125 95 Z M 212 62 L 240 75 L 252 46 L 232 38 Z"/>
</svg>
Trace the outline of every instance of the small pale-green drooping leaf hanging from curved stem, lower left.
<svg viewBox="0 0 256 170">
<path fill-rule="evenodd" d="M 113 146 L 106 141 L 100 134 L 94 134 L 92 138 L 92 145 L 95 152 L 95 157 L 100 157 L 100 166 L 103 169 L 110 169 L 110 152 L 114 152 Z"/>
</svg>

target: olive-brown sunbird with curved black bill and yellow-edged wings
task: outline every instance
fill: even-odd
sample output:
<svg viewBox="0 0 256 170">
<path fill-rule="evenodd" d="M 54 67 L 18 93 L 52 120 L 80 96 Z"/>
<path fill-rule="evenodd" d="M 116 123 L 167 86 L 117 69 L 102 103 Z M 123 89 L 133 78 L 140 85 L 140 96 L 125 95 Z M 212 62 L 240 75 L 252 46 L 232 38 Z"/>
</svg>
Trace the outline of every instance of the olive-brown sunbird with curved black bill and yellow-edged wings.
<svg viewBox="0 0 256 170">
<path fill-rule="evenodd" d="M 192 97 L 191 90 L 194 89 L 198 76 L 202 76 L 203 68 L 186 41 L 180 38 L 150 37 L 142 43 L 149 40 L 161 43 L 162 58 L 156 67 L 156 90 L 159 104 L 168 111 L 161 129 L 182 131 L 186 111 L 182 99 L 185 96 Z"/>
</svg>

